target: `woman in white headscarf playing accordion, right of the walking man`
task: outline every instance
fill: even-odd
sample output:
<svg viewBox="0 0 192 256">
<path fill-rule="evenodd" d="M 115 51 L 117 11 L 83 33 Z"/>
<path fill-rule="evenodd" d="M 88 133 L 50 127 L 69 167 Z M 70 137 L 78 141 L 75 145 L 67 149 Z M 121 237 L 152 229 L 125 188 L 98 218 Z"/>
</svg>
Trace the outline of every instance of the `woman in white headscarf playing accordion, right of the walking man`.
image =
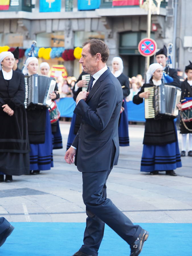
<svg viewBox="0 0 192 256">
<path fill-rule="evenodd" d="M 141 91 L 133 97 L 133 103 L 141 104 L 143 98 L 149 97 L 144 88 L 162 84 L 163 67 L 159 63 L 149 66 L 146 73 L 146 83 Z M 177 131 L 172 117 L 162 116 L 146 119 L 143 139 L 143 154 L 141 158 L 141 172 L 150 175 L 165 171 L 167 175 L 177 176 L 174 169 L 181 167 L 181 157 L 177 140 Z"/>
</svg>

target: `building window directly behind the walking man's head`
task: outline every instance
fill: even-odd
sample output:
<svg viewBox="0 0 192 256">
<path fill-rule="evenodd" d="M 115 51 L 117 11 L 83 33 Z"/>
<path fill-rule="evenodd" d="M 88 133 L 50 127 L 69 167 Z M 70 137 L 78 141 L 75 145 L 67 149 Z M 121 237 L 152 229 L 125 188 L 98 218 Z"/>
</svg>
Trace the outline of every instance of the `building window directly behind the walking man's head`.
<svg viewBox="0 0 192 256">
<path fill-rule="evenodd" d="M 104 32 L 85 32 L 85 31 L 76 31 L 75 32 L 75 36 L 74 36 L 74 46 L 77 47 L 81 47 L 82 44 L 86 41 L 86 40 L 90 40 L 92 38 L 97 38 L 100 40 L 105 39 L 105 34 Z"/>
</svg>

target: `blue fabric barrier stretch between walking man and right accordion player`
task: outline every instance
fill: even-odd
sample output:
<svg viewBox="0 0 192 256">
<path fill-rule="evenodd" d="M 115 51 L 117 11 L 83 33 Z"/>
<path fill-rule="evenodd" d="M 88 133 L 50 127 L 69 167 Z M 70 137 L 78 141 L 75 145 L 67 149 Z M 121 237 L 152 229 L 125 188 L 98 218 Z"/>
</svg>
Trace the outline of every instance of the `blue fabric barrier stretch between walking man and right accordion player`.
<svg viewBox="0 0 192 256">
<path fill-rule="evenodd" d="M 128 110 L 128 121 L 145 122 L 144 102 L 136 105 L 133 101 L 126 102 Z"/>
</svg>

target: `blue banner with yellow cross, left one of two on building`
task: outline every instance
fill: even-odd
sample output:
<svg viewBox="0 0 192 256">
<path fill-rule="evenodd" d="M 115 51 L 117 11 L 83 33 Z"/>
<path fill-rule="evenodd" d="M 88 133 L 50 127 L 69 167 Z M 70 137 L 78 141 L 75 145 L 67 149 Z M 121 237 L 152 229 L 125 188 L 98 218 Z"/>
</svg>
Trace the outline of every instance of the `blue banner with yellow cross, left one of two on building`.
<svg viewBox="0 0 192 256">
<path fill-rule="evenodd" d="M 40 13 L 60 12 L 61 0 L 40 0 L 39 11 Z"/>
</svg>

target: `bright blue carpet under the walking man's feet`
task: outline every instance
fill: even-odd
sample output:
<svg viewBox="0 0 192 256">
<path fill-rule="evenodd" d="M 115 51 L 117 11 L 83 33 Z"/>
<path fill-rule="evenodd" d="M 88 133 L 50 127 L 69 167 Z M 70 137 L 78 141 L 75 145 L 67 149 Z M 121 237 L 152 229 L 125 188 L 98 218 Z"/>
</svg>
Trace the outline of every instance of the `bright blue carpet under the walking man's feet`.
<svg viewBox="0 0 192 256">
<path fill-rule="evenodd" d="M 85 223 L 13 222 L 0 255 L 71 256 L 82 245 Z M 141 256 L 192 256 L 192 224 L 142 223 L 149 231 Z M 107 225 L 99 256 L 130 255 L 129 245 Z"/>
</svg>

